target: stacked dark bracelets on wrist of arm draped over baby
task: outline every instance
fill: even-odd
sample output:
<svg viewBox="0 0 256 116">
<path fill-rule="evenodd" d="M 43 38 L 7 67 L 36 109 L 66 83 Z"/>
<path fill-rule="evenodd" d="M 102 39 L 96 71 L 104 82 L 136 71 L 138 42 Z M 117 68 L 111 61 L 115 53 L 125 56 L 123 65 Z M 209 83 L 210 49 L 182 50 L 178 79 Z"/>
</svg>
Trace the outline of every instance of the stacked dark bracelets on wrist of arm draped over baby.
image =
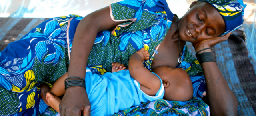
<svg viewBox="0 0 256 116">
<path fill-rule="evenodd" d="M 80 80 L 68 80 L 70 78 L 77 78 Z M 72 86 L 80 86 L 80 87 L 84 87 L 85 88 L 85 80 L 83 78 L 80 77 L 69 77 L 65 79 L 65 90 L 69 87 Z"/>
</svg>

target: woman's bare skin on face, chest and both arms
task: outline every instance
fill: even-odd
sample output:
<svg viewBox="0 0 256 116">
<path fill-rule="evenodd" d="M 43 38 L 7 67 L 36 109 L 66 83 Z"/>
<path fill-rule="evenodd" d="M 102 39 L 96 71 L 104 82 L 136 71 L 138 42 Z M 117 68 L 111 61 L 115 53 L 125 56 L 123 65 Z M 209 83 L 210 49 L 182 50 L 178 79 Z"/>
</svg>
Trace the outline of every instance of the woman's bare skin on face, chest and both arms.
<svg viewBox="0 0 256 116">
<path fill-rule="evenodd" d="M 152 61 L 152 69 L 159 66 L 176 67 L 178 65 L 179 48 L 176 23 L 179 28 L 180 46 L 184 46 L 185 41 L 191 42 L 196 52 L 225 41 L 230 36 L 230 34 L 226 34 L 219 37 L 224 32 L 225 23 L 213 6 L 206 2 L 193 2 L 190 8 L 179 20 L 174 16 L 168 34 L 158 48 L 159 53 Z M 205 14 L 207 14 L 207 18 Z M 80 21 L 74 36 L 68 77 L 85 77 L 87 59 L 96 34 L 102 30 L 113 29 L 120 23 L 122 22 L 111 20 L 109 7 L 97 10 Z M 202 52 L 211 52 L 211 50 L 207 49 Z M 210 106 L 211 115 L 236 116 L 236 97 L 216 63 L 202 63 L 202 68 L 207 85 L 205 102 Z M 84 116 L 90 116 L 90 102 L 85 89 L 78 86 L 67 88 L 60 103 L 61 116 L 80 116 L 81 113 Z"/>
</svg>

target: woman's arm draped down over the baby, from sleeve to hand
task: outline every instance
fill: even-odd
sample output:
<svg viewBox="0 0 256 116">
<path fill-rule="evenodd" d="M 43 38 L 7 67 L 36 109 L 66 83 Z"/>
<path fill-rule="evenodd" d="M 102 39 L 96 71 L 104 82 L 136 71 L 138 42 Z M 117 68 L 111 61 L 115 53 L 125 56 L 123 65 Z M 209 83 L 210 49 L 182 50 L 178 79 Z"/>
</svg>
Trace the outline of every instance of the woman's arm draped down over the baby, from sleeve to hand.
<svg viewBox="0 0 256 116">
<path fill-rule="evenodd" d="M 109 7 L 92 12 L 79 22 L 73 40 L 68 77 L 85 77 L 87 59 L 97 33 L 115 28 L 120 23 L 122 22 L 114 22 L 110 18 Z M 90 102 L 86 90 L 79 86 L 67 88 L 60 103 L 60 114 L 80 116 L 81 110 L 84 115 L 90 115 Z"/>
</svg>

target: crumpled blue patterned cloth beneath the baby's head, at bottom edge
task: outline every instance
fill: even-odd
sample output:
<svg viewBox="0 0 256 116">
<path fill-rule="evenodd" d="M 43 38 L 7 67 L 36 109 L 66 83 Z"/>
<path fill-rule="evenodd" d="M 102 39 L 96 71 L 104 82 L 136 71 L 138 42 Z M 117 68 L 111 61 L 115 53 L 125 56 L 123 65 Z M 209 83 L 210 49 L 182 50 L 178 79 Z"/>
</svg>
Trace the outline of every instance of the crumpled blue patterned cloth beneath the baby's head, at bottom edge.
<svg viewBox="0 0 256 116">
<path fill-rule="evenodd" d="M 120 111 L 114 116 L 210 116 L 210 108 L 197 97 L 186 102 L 158 99 Z"/>
</svg>

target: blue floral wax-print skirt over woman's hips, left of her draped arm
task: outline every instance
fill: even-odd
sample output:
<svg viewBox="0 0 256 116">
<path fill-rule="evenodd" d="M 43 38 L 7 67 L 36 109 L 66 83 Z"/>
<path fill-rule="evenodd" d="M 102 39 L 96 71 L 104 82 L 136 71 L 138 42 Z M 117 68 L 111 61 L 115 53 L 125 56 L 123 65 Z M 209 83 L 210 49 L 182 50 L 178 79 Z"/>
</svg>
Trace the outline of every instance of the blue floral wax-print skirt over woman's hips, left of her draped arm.
<svg viewBox="0 0 256 116">
<path fill-rule="evenodd" d="M 68 71 L 69 19 L 46 20 L 0 52 L 1 116 L 38 116 L 48 108 L 39 85 L 51 86 Z"/>
</svg>

